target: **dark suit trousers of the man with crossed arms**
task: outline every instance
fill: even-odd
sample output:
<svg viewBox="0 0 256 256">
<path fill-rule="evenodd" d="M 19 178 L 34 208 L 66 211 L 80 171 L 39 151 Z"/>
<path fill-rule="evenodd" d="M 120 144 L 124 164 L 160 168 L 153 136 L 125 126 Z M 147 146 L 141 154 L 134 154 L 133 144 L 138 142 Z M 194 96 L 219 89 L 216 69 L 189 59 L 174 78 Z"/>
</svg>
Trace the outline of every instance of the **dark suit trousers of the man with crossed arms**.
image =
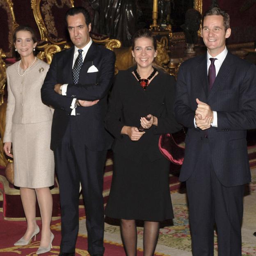
<svg viewBox="0 0 256 256">
<path fill-rule="evenodd" d="M 85 202 L 88 251 L 103 254 L 103 168 L 107 151 L 90 151 L 82 142 L 77 119 L 70 118 L 62 141 L 54 151 L 59 180 L 61 252 L 74 252 L 79 229 L 79 188 Z M 92 139 L 92 138 L 90 138 Z"/>
</svg>

